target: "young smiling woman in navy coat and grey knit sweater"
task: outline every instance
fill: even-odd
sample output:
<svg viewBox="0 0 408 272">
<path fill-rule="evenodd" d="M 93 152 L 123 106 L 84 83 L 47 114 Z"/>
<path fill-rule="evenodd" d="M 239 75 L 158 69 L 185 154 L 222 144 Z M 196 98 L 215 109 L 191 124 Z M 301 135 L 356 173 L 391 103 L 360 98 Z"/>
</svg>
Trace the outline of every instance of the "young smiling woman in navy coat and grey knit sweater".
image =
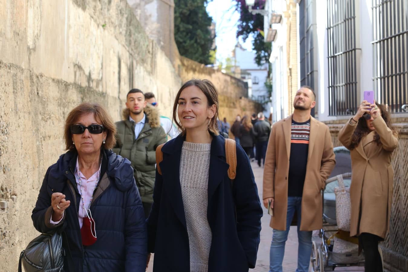
<svg viewBox="0 0 408 272">
<path fill-rule="evenodd" d="M 173 119 L 182 133 L 162 147 L 162 174 L 156 170 L 147 219 L 154 272 L 255 267 L 262 217 L 258 190 L 239 145 L 236 178 L 228 178 L 218 108 L 217 91 L 208 80 L 190 80 L 177 93 Z"/>
</svg>

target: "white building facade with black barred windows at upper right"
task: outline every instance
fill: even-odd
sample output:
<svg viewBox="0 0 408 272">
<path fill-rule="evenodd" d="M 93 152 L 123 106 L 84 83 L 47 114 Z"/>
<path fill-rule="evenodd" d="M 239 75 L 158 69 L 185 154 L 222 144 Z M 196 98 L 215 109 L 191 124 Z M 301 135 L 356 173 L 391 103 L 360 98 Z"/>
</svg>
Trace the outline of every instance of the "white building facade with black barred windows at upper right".
<svg viewBox="0 0 408 272">
<path fill-rule="evenodd" d="M 348 119 L 371 90 L 407 117 L 408 1 L 297 2 L 299 85 L 315 89 L 315 117 Z"/>
</svg>

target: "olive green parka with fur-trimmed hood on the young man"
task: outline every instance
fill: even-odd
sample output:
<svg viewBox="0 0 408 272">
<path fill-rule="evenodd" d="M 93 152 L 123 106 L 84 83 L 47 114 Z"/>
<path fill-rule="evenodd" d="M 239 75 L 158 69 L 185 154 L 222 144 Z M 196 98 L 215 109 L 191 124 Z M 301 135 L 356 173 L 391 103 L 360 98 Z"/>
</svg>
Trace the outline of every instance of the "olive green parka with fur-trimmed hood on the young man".
<svg viewBox="0 0 408 272">
<path fill-rule="evenodd" d="M 123 110 L 123 120 L 116 122 L 118 132 L 116 145 L 112 150 L 131 161 L 142 202 L 152 203 L 156 173 L 155 150 L 157 146 L 166 142 L 166 133 L 160 126 L 160 115 L 157 109 L 148 105 L 144 108 L 144 114 L 146 122 L 135 139 L 135 122 L 129 121 L 129 109 Z"/>
</svg>

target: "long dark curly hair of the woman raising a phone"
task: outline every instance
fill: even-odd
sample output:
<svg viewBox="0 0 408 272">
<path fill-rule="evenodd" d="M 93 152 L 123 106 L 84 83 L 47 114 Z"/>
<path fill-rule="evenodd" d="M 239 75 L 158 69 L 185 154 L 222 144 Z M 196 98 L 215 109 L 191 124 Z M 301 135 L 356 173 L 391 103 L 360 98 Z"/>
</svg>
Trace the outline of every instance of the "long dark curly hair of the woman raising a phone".
<svg viewBox="0 0 408 272">
<path fill-rule="evenodd" d="M 381 116 L 384 119 L 384 122 L 387 124 L 388 128 L 390 128 L 392 130 L 392 133 L 394 135 L 397 135 L 397 132 L 395 130 L 392 129 L 392 125 L 391 125 L 391 115 L 390 113 L 387 111 L 387 108 L 385 105 L 383 104 L 378 104 L 375 103 L 378 108 L 381 111 Z M 354 130 L 353 135 L 351 136 L 351 144 L 350 144 L 350 149 L 354 149 L 356 146 L 358 146 L 358 144 L 360 143 L 361 139 L 366 136 L 368 133 L 370 133 L 371 130 L 368 129 L 367 127 L 367 122 L 366 119 L 364 118 L 364 116 L 360 117 L 360 119 L 358 119 L 357 122 L 357 127 Z M 381 144 L 381 139 L 380 136 L 378 135 L 377 132 L 375 132 L 374 135 L 374 141 L 377 143 L 377 145 Z"/>
</svg>

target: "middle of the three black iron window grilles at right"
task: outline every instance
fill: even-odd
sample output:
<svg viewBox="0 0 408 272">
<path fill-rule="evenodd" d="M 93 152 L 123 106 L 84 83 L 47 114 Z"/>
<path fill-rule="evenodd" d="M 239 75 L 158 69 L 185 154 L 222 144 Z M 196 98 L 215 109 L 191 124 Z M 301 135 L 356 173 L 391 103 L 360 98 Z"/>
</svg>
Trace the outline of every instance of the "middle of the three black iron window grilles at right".
<svg viewBox="0 0 408 272">
<path fill-rule="evenodd" d="M 327 26 L 329 115 L 353 115 L 360 93 L 355 0 L 328 0 Z"/>
</svg>

